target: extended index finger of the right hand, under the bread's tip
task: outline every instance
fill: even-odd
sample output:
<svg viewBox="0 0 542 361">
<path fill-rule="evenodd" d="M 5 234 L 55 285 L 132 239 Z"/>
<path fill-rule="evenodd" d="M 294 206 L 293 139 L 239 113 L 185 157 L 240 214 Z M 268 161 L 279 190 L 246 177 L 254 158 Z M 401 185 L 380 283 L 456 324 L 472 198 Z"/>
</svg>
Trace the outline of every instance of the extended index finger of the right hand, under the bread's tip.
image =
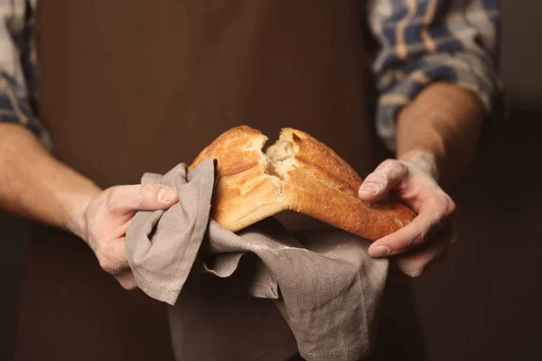
<svg viewBox="0 0 542 361">
<path fill-rule="evenodd" d="M 405 253 L 423 244 L 425 239 L 435 235 L 442 227 L 451 226 L 451 222 L 447 206 L 440 200 L 430 201 L 412 222 L 370 245 L 369 255 L 383 257 Z"/>
</svg>

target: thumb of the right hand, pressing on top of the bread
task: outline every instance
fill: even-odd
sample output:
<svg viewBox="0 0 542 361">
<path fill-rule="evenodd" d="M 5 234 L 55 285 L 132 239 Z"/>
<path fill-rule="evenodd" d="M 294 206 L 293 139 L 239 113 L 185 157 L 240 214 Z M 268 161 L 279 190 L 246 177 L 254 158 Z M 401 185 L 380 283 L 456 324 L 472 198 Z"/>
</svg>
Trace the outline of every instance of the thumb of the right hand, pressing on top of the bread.
<svg viewBox="0 0 542 361">
<path fill-rule="evenodd" d="M 375 201 L 384 198 L 389 190 L 397 188 L 406 172 L 406 166 L 401 162 L 382 162 L 361 184 L 358 192 L 360 199 Z"/>
</svg>

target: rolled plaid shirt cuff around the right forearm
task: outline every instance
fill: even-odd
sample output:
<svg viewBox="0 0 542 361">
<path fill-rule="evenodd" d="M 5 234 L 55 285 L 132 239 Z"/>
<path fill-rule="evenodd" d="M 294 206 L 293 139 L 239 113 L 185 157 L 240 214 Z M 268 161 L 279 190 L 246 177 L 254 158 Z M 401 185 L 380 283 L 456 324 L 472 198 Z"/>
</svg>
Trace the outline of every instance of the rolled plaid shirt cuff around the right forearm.
<svg viewBox="0 0 542 361">
<path fill-rule="evenodd" d="M 388 69 L 378 79 L 378 135 L 388 150 L 395 151 L 398 112 L 429 84 L 444 81 L 480 99 L 487 116 L 481 139 L 481 147 L 486 148 L 499 137 L 505 119 L 504 96 L 498 79 L 491 64 L 468 52 L 430 54 Z"/>
</svg>

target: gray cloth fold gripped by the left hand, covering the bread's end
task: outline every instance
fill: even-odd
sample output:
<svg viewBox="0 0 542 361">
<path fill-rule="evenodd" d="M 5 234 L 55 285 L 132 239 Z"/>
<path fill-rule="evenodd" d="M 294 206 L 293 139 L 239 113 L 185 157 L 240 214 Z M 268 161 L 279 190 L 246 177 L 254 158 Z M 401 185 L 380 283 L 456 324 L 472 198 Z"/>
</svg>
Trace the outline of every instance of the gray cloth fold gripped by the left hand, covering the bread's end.
<svg viewBox="0 0 542 361">
<path fill-rule="evenodd" d="M 174 187 L 179 202 L 167 210 L 140 211 L 126 231 L 126 255 L 137 286 L 174 304 L 207 230 L 216 178 L 212 160 L 188 171 L 179 164 L 164 176 L 145 173 L 142 183 Z"/>
</svg>

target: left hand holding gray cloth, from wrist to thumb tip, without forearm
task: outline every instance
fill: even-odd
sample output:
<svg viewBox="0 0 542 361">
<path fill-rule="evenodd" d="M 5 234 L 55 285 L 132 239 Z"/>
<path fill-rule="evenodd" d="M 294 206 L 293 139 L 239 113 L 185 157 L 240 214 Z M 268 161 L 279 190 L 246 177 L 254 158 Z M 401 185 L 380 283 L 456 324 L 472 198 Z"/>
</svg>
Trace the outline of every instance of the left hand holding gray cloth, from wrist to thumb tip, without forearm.
<svg viewBox="0 0 542 361">
<path fill-rule="evenodd" d="M 158 210 L 178 200 L 174 188 L 157 184 L 112 187 L 89 201 L 79 221 L 79 234 L 98 257 L 104 271 L 126 289 L 135 289 L 126 259 L 126 230 L 138 210 Z"/>
</svg>

